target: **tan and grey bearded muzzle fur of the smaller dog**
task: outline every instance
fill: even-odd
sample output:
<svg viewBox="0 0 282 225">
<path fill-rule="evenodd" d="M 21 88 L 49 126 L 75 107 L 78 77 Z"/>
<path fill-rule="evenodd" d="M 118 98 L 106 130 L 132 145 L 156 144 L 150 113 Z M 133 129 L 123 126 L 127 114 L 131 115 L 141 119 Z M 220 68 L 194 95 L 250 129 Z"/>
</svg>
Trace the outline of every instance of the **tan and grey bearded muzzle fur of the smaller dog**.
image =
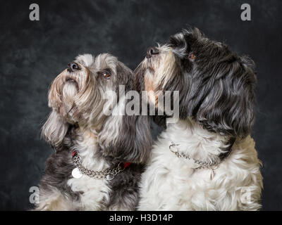
<svg viewBox="0 0 282 225">
<path fill-rule="evenodd" d="M 71 124 L 89 123 L 92 127 L 99 127 L 96 123 L 102 121 L 102 95 L 102 89 L 86 68 L 82 67 L 78 72 L 64 70 L 51 84 L 49 107 Z"/>
</svg>

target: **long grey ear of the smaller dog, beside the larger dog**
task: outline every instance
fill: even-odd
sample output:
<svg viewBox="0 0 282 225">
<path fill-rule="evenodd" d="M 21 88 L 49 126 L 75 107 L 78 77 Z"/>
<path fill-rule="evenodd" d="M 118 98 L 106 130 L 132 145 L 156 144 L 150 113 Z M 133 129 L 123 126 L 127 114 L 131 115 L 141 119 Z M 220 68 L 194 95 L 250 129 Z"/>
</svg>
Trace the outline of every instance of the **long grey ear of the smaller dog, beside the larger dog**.
<svg viewBox="0 0 282 225">
<path fill-rule="evenodd" d="M 125 86 L 124 94 L 134 90 L 140 96 L 140 101 L 137 102 L 140 105 L 140 111 L 135 115 L 128 115 L 124 108 L 132 99 L 119 96 L 118 105 L 113 110 L 114 115 L 108 117 L 102 131 L 99 132 L 99 145 L 105 156 L 113 157 L 120 162 L 145 163 L 152 147 L 152 135 L 149 116 L 141 115 L 140 93 L 144 87 L 137 77 L 133 77 L 132 71 L 123 64 L 118 66 L 118 74 L 122 75 L 119 84 Z"/>
</svg>

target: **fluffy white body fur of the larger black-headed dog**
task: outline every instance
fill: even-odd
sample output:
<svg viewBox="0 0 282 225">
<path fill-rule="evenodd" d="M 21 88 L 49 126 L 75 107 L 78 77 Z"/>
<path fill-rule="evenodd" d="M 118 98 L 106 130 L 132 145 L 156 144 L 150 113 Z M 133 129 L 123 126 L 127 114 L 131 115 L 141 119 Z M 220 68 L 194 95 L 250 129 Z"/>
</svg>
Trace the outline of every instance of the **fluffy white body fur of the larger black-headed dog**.
<svg viewBox="0 0 282 225">
<path fill-rule="evenodd" d="M 153 146 L 142 174 L 139 210 L 259 209 L 262 175 L 255 142 L 250 136 L 236 141 L 231 155 L 221 162 L 213 179 L 210 169 L 195 169 L 193 161 L 171 153 L 171 141 L 180 144 L 181 153 L 207 161 L 221 153 L 224 139 L 192 120 L 170 124 Z M 244 199 L 245 196 L 250 199 Z"/>
</svg>

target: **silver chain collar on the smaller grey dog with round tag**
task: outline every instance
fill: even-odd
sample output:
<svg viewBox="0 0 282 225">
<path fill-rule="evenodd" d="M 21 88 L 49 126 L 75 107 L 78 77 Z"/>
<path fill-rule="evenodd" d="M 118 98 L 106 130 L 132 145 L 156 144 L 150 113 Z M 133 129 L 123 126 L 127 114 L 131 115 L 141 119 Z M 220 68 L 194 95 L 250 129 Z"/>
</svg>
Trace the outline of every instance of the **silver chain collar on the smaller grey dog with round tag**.
<svg viewBox="0 0 282 225">
<path fill-rule="evenodd" d="M 99 170 L 99 171 L 87 169 L 82 166 L 81 158 L 76 151 L 73 152 L 73 163 L 75 167 L 77 167 L 80 170 L 82 174 L 85 174 L 87 176 L 90 176 L 92 178 L 97 178 L 97 179 L 112 180 L 114 179 L 116 174 L 123 172 L 123 170 L 125 169 L 125 167 L 121 166 L 122 162 L 118 163 L 117 167 L 114 167 L 111 169 L 104 169 L 104 170 Z"/>
</svg>

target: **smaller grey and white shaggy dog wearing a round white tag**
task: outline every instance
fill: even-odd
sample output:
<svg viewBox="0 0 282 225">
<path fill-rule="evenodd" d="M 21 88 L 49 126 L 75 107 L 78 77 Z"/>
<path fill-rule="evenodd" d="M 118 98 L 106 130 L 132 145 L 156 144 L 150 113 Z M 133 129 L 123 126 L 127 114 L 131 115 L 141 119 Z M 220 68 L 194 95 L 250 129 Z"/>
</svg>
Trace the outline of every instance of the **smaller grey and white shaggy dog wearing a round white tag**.
<svg viewBox="0 0 282 225">
<path fill-rule="evenodd" d="M 120 85 L 118 98 L 104 98 Z M 135 210 L 151 148 L 149 120 L 119 111 L 128 101 L 125 91 L 137 89 L 132 71 L 107 53 L 78 56 L 54 79 L 42 136 L 56 152 L 47 160 L 35 210 Z"/>
</svg>

